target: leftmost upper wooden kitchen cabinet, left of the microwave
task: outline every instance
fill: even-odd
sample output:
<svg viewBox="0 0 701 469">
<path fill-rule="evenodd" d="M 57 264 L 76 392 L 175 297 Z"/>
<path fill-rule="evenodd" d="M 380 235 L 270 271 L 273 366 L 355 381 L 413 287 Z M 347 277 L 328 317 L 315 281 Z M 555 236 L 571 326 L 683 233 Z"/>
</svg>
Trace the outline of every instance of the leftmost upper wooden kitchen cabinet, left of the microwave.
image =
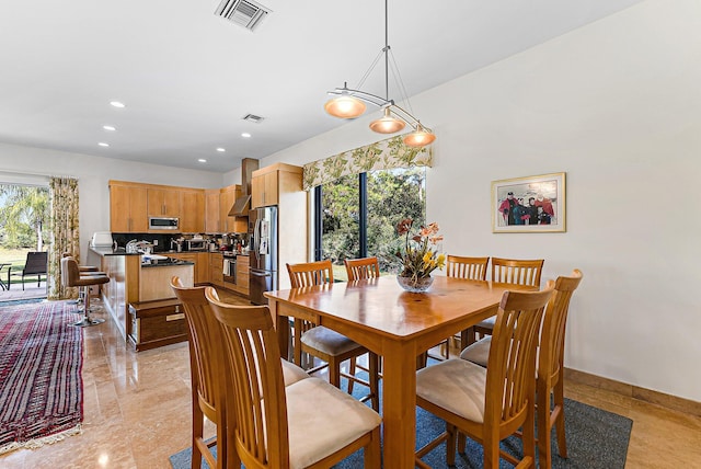
<svg viewBox="0 0 701 469">
<path fill-rule="evenodd" d="M 146 232 L 148 190 L 143 185 L 110 181 L 110 230 L 112 232 Z"/>
</svg>

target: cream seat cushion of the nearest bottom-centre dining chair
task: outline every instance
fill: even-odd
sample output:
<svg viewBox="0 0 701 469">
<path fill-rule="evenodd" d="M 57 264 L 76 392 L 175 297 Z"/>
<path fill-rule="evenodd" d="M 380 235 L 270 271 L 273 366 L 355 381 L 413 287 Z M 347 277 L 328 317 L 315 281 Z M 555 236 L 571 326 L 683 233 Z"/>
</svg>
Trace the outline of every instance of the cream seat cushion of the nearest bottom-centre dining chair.
<svg viewBox="0 0 701 469">
<path fill-rule="evenodd" d="M 290 468 L 311 466 L 381 422 L 372 409 L 323 379 L 302 379 L 285 388 L 285 394 Z"/>
</svg>

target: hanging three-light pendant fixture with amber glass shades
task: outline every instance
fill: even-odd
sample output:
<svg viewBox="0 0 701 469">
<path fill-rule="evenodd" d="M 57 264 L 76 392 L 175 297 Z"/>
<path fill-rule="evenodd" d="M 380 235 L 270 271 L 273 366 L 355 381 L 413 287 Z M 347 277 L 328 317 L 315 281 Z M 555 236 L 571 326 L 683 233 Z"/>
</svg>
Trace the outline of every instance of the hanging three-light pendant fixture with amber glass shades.
<svg viewBox="0 0 701 469">
<path fill-rule="evenodd" d="M 324 110 L 326 110 L 326 112 L 334 117 L 355 118 L 363 115 L 363 113 L 365 112 L 365 103 L 374 104 L 378 107 L 381 107 L 383 112 L 382 117 L 370 123 L 371 130 L 379 134 L 394 134 L 402 130 L 406 126 L 406 124 L 409 124 L 409 126 L 412 128 L 412 131 L 404 136 L 404 144 L 410 147 L 424 147 L 426 145 L 430 145 L 436 139 L 433 130 L 428 127 L 424 127 L 416 117 L 414 117 L 407 111 L 398 106 L 394 101 L 390 100 L 389 98 L 389 57 L 391 48 L 389 45 L 388 35 L 389 27 L 387 3 L 388 0 L 384 0 L 384 47 L 375 58 L 375 61 L 372 62 L 368 71 L 365 72 L 365 76 L 358 84 L 358 88 L 363 87 L 363 83 L 368 78 L 370 72 L 375 69 L 375 66 L 383 55 L 384 98 L 361 91 L 359 89 L 350 89 L 348 88 L 347 83 L 344 83 L 343 88 L 336 88 L 334 91 L 329 92 L 329 94 L 335 98 L 332 98 L 326 102 L 326 104 L 324 105 Z M 393 60 L 394 57 L 392 56 L 392 61 Z M 394 61 L 393 65 L 393 71 L 399 76 L 399 68 L 397 67 L 397 64 Z M 401 78 L 399 78 L 398 82 L 402 83 Z M 404 96 L 406 96 L 405 92 Z M 409 103 L 409 98 L 405 98 L 405 101 L 406 103 Z"/>
</svg>

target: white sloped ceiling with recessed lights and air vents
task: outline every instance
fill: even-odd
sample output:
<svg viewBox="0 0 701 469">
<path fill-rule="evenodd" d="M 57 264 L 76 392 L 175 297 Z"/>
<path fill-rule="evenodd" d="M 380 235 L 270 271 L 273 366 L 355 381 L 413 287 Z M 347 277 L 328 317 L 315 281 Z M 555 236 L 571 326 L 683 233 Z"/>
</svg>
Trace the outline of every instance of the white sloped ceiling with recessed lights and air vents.
<svg viewBox="0 0 701 469">
<path fill-rule="evenodd" d="M 639 1 L 389 0 L 389 44 L 411 96 Z M 258 3 L 251 32 L 219 0 L 1 2 L 0 141 L 225 172 L 343 125 L 326 91 L 383 47 L 383 2 Z M 384 95 L 383 62 L 363 90 Z"/>
</svg>

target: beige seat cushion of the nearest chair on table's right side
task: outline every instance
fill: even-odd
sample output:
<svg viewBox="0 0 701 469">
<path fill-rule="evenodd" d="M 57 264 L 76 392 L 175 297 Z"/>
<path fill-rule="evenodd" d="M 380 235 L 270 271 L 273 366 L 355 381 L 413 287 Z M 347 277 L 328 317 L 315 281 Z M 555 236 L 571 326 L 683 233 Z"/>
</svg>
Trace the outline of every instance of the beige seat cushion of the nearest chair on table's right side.
<svg viewBox="0 0 701 469">
<path fill-rule="evenodd" d="M 416 371 L 416 396 L 463 419 L 484 422 L 486 368 L 452 358 Z"/>
</svg>

